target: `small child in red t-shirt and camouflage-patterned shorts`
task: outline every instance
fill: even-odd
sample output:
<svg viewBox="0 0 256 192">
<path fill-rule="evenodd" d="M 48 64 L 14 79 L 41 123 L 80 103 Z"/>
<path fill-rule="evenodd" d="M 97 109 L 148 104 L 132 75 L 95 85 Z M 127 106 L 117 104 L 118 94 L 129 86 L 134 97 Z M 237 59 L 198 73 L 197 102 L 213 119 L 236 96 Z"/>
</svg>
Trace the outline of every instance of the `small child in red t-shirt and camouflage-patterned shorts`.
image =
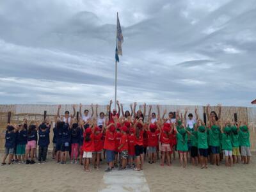
<svg viewBox="0 0 256 192">
<path fill-rule="evenodd" d="M 120 157 L 122 161 L 122 168 L 119 170 L 124 170 L 127 165 L 127 158 L 128 158 L 128 137 L 127 137 L 127 127 L 122 127 L 122 137 L 120 140 L 120 145 L 118 150 L 120 151 Z"/>
</svg>

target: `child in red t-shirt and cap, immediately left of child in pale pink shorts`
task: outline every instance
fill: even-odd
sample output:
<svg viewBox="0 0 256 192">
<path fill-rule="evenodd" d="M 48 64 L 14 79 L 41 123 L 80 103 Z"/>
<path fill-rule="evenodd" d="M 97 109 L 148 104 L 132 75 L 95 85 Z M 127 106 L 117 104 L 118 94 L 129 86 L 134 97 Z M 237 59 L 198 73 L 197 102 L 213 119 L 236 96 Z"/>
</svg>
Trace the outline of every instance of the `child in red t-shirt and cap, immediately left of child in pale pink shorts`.
<svg viewBox="0 0 256 192">
<path fill-rule="evenodd" d="M 148 154 L 149 159 L 148 163 L 156 163 L 156 150 L 158 145 L 158 135 L 159 129 L 157 128 L 157 124 L 150 124 L 149 131 L 147 130 L 148 135 Z"/>
</svg>

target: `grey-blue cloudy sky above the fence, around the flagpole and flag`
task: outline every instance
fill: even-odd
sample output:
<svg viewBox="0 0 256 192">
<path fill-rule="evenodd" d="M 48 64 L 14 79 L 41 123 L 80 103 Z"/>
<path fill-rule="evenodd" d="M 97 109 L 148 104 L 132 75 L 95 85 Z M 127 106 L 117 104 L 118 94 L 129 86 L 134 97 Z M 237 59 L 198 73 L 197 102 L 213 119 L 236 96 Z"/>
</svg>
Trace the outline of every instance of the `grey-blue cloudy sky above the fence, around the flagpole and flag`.
<svg viewBox="0 0 256 192">
<path fill-rule="evenodd" d="M 3 0 L 1 104 L 114 99 L 116 12 L 124 35 L 120 102 L 256 99 L 253 0 Z"/>
</svg>

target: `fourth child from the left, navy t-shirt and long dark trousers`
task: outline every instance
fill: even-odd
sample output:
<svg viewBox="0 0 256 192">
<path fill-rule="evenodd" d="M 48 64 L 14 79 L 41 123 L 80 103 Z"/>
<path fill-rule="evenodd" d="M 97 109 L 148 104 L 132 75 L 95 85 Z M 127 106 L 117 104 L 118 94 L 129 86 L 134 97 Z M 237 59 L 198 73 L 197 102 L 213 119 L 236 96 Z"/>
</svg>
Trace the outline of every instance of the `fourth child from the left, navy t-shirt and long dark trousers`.
<svg viewBox="0 0 256 192">
<path fill-rule="evenodd" d="M 46 124 L 41 124 L 38 129 L 38 163 L 45 163 L 48 145 L 50 144 L 50 127 Z"/>
</svg>

